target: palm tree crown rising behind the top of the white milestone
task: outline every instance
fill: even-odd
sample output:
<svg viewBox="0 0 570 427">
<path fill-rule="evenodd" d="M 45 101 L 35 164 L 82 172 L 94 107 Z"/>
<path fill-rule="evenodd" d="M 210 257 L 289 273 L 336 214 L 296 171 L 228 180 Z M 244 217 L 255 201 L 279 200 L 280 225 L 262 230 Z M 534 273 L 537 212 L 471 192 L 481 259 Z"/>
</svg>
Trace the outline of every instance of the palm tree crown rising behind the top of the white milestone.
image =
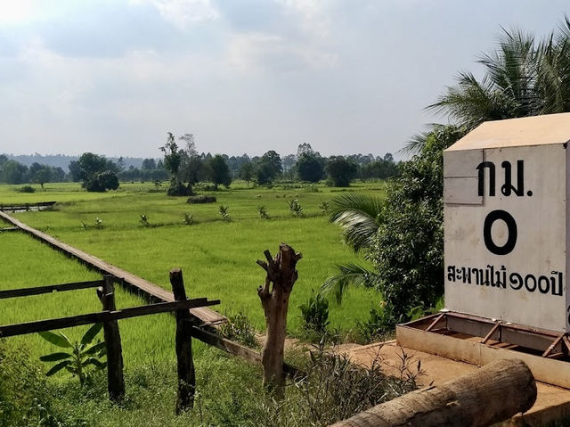
<svg viewBox="0 0 570 427">
<path fill-rule="evenodd" d="M 498 47 L 478 61 L 485 76 L 460 72 L 427 107 L 472 129 L 485 120 L 570 111 L 570 21 L 542 42 L 520 29 L 503 29 Z M 411 148 L 417 144 L 410 144 Z"/>
</svg>

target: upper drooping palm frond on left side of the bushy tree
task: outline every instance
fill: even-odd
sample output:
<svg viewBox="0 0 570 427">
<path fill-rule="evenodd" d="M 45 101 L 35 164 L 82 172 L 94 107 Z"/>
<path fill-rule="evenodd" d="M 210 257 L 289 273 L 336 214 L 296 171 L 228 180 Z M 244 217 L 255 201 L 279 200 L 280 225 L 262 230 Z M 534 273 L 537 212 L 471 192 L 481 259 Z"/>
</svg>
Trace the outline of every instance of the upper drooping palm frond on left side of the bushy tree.
<svg viewBox="0 0 570 427">
<path fill-rule="evenodd" d="M 343 238 L 355 252 L 370 248 L 379 227 L 382 200 L 346 193 L 330 201 L 330 221 L 343 229 Z"/>
</svg>

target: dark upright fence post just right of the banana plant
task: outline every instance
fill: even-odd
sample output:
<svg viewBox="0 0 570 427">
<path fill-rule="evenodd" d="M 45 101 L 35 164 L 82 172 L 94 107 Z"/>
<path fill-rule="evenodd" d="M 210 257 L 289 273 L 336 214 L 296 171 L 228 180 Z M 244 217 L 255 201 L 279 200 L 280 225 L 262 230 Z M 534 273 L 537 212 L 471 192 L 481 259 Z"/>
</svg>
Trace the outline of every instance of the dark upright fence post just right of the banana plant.
<svg viewBox="0 0 570 427">
<path fill-rule="evenodd" d="M 113 276 L 105 275 L 104 284 L 97 289 L 97 295 L 103 305 L 103 311 L 114 311 L 115 292 Z M 120 403 L 125 398 L 125 379 L 123 377 L 123 349 L 121 336 L 118 332 L 118 321 L 103 322 L 103 333 L 107 344 L 107 387 L 111 401 Z"/>
</svg>

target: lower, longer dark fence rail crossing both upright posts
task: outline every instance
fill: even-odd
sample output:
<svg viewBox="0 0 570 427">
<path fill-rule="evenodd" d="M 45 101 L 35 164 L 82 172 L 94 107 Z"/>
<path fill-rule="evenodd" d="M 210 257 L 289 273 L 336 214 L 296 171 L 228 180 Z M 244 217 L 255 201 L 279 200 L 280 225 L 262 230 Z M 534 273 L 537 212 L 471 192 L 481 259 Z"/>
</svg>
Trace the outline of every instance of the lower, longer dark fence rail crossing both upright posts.
<svg viewBox="0 0 570 427">
<path fill-rule="evenodd" d="M 97 324 L 101 322 L 109 322 L 111 320 L 120 320 L 131 317 L 167 313 L 175 310 L 214 306 L 219 303 L 219 300 L 208 301 L 205 298 L 197 298 L 194 300 L 185 301 L 159 302 L 157 304 L 151 304 L 149 306 L 123 308 L 116 311 L 102 311 L 98 313 L 89 313 L 86 315 L 60 317 L 57 319 L 49 320 L 37 320 L 23 324 L 8 324 L 6 326 L 0 326 L 0 337 L 11 337 L 15 335 L 23 335 L 26 333 L 40 333 L 43 331 L 52 331 L 53 329 L 65 329 L 73 326 L 81 326 L 83 324 Z"/>
</svg>

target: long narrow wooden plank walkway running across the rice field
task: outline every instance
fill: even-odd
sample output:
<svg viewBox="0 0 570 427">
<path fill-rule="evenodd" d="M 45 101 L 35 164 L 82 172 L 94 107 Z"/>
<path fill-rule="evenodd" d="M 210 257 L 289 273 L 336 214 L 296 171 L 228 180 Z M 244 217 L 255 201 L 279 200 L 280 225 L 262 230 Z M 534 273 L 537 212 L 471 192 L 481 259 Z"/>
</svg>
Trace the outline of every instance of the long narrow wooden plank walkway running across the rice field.
<svg viewBox="0 0 570 427">
<path fill-rule="evenodd" d="M 162 289 L 160 286 L 144 280 L 142 277 L 129 273 L 128 271 L 121 268 L 115 267 L 108 262 L 103 261 L 102 259 L 84 252 L 83 250 L 78 250 L 73 246 L 69 246 L 69 244 L 60 242 L 49 234 L 42 233 L 41 231 L 32 228 L 31 226 L 27 226 L 18 219 L 12 218 L 1 209 L 0 218 L 3 218 L 4 220 L 11 223 L 12 226 L 20 228 L 20 230 L 27 234 L 30 234 L 41 242 L 47 243 L 54 249 L 61 250 L 69 257 L 84 262 L 89 267 L 93 267 L 94 269 L 102 272 L 102 274 L 114 276 L 126 287 L 131 287 L 138 292 L 144 293 L 151 300 L 158 300 L 159 302 L 172 302 L 175 300 L 172 292 L 168 292 L 167 290 Z M 225 321 L 224 316 L 207 307 L 191 308 L 190 312 L 193 316 L 198 317 L 204 324 L 215 325 Z"/>
</svg>

